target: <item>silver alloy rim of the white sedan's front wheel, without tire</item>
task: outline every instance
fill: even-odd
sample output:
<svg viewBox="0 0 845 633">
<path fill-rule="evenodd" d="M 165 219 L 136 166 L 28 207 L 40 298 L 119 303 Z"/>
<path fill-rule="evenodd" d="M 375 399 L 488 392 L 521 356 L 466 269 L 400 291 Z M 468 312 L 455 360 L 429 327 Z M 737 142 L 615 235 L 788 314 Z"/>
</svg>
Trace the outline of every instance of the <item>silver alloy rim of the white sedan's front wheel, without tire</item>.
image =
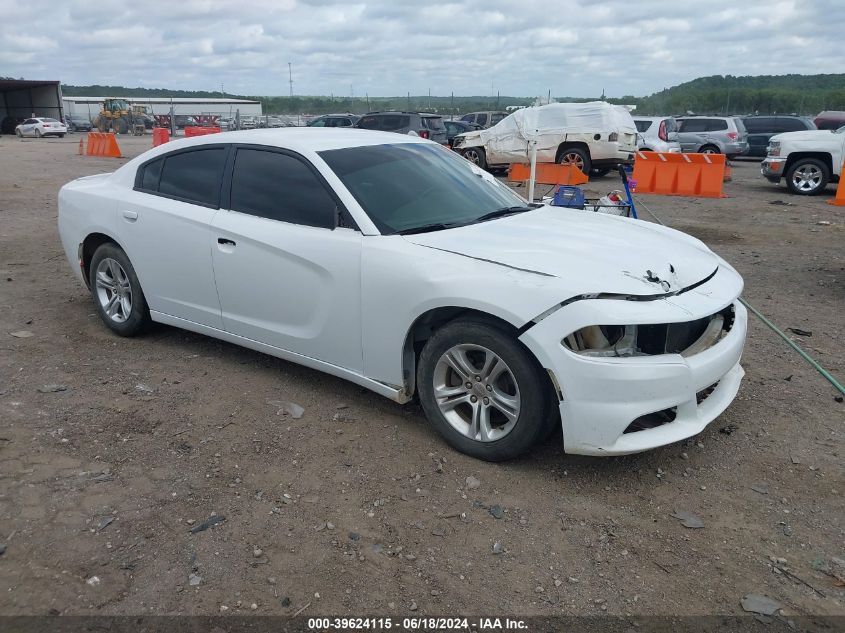
<svg viewBox="0 0 845 633">
<path fill-rule="evenodd" d="M 520 411 L 519 386 L 507 363 L 480 345 L 455 345 L 437 361 L 434 398 L 462 435 L 494 442 L 510 433 Z"/>
</svg>

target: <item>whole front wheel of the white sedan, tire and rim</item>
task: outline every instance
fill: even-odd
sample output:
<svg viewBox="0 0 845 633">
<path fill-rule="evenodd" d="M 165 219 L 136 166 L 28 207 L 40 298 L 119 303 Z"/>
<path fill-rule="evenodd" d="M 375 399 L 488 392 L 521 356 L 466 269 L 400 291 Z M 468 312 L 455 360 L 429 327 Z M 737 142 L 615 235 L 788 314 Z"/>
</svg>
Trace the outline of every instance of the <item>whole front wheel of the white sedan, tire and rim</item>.
<svg viewBox="0 0 845 633">
<path fill-rule="evenodd" d="M 420 354 L 417 385 L 435 430 L 478 459 L 518 457 L 556 422 L 549 380 L 537 361 L 512 333 L 480 319 L 458 319 L 434 333 Z"/>
</svg>

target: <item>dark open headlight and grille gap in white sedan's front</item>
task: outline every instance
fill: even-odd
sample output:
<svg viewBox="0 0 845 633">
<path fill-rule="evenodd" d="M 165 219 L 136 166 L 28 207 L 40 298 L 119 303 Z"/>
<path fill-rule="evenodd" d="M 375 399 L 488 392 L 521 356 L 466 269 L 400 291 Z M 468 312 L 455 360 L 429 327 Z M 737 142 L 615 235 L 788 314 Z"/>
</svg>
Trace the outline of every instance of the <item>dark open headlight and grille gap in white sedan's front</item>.
<svg viewBox="0 0 845 633">
<path fill-rule="evenodd" d="M 565 336 L 561 343 L 581 356 L 624 358 L 680 354 L 688 357 L 718 343 L 731 329 L 734 307 L 703 319 L 647 325 L 589 325 Z"/>
</svg>

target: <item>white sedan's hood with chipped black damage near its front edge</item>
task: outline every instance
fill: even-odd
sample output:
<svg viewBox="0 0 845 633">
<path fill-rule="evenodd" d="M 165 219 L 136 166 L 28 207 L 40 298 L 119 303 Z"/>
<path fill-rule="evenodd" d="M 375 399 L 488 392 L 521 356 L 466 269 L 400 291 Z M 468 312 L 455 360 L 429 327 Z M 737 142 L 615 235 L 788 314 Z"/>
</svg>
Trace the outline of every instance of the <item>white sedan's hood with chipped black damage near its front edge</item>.
<svg viewBox="0 0 845 633">
<path fill-rule="evenodd" d="M 568 297 L 676 293 L 712 276 L 720 263 L 702 242 L 679 231 L 551 206 L 405 239 L 419 246 L 560 278 L 567 286 Z"/>
</svg>

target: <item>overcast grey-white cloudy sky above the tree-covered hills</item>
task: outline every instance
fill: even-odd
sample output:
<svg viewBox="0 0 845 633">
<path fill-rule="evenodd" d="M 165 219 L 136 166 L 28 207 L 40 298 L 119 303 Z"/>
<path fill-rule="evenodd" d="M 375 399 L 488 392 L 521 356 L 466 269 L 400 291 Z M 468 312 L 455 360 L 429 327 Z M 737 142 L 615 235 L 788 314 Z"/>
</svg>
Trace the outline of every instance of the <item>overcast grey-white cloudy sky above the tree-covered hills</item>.
<svg viewBox="0 0 845 633">
<path fill-rule="evenodd" d="M 0 76 L 227 94 L 647 95 L 845 72 L 843 0 L 0 0 Z"/>
</svg>

